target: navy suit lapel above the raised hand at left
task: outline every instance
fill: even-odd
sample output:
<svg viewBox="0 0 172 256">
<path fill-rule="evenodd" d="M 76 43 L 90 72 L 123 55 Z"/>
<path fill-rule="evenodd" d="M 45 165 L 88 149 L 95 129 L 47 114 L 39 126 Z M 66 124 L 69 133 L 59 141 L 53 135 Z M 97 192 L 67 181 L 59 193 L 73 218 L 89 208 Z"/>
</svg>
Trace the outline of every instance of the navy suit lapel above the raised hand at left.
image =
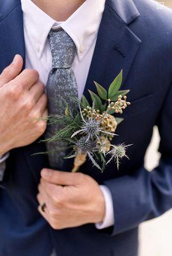
<svg viewBox="0 0 172 256">
<path fill-rule="evenodd" d="M 8 66 L 15 54 L 20 54 L 25 60 L 23 18 L 20 1 L 10 1 L 3 4 L 0 16 L 0 72 Z"/>
</svg>

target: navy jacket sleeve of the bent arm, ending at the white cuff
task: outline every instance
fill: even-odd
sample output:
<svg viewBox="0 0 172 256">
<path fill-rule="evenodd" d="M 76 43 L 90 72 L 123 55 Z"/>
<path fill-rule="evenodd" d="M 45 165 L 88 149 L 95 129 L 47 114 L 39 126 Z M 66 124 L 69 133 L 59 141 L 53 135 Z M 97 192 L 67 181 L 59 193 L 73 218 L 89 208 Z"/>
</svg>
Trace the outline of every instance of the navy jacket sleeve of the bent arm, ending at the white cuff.
<svg viewBox="0 0 172 256">
<path fill-rule="evenodd" d="M 172 86 L 160 111 L 157 126 L 160 134 L 159 166 L 152 172 L 144 167 L 134 175 L 125 175 L 104 184 L 113 196 L 112 235 L 137 227 L 160 216 L 172 207 Z"/>
</svg>

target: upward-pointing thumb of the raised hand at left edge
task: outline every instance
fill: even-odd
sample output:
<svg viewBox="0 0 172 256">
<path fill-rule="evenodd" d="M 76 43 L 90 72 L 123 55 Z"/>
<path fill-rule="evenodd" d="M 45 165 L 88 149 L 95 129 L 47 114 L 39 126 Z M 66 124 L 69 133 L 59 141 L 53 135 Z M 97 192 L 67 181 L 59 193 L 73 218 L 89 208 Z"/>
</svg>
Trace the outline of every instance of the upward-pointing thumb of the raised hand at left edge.
<svg viewBox="0 0 172 256">
<path fill-rule="evenodd" d="M 15 79 L 15 77 L 17 77 L 20 74 L 22 67 L 22 56 L 16 54 L 12 63 L 8 67 L 4 68 L 3 72 L 0 75 L 0 87 Z"/>
</svg>

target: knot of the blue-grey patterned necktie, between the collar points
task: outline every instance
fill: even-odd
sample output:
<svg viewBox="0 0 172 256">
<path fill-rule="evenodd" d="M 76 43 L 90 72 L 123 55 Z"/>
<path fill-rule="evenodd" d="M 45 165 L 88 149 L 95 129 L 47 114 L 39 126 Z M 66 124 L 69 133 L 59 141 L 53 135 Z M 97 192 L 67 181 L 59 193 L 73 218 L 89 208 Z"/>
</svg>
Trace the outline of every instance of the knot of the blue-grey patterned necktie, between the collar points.
<svg viewBox="0 0 172 256">
<path fill-rule="evenodd" d="M 72 38 L 64 30 L 51 30 L 49 42 L 52 68 L 71 68 L 76 53 L 76 46 Z"/>
</svg>

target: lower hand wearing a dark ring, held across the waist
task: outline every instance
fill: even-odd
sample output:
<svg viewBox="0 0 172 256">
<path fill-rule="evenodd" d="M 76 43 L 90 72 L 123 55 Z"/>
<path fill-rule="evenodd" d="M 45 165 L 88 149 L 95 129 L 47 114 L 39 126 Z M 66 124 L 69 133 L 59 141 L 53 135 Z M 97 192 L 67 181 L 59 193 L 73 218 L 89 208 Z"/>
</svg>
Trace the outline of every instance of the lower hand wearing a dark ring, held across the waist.
<svg viewBox="0 0 172 256">
<path fill-rule="evenodd" d="M 78 227 L 103 221 L 105 202 L 98 183 L 82 173 L 43 169 L 38 186 L 38 211 L 52 228 Z"/>
</svg>

